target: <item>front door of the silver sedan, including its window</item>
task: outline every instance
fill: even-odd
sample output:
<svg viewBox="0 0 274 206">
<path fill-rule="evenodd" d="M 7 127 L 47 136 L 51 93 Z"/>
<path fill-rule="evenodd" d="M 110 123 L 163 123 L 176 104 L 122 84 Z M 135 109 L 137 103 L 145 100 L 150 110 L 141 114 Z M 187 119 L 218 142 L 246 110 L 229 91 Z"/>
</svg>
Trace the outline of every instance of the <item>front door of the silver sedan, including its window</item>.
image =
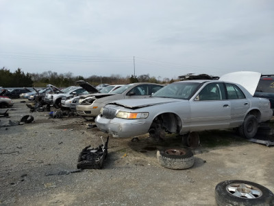
<svg viewBox="0 0 274 206">
<path fill-rule="evenodd" d="M 190 100 L 190 130 L 228 128 L 229 122 L 230 102 L 223 82 L 206 84 Z"/>
</svg>

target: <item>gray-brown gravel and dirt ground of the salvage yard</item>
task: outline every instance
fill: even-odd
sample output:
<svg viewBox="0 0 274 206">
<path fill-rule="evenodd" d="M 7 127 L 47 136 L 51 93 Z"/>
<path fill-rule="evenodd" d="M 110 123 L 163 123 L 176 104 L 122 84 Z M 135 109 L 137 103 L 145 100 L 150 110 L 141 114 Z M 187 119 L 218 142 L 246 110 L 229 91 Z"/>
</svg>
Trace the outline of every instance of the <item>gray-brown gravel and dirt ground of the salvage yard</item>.
<svg viewBox="0 0 274 206">
<path fill-rule="evenodd" d="M 14 101 L 10 117 L 0 117 L 2 125 L 30 114 L 25 102 Z M 0 205 L 216 205 L 216 184 L 232 179 L 274 192 L 273 146 L 233 130 L 200 133 L 195 164 L 186 170 L 163 168 L 156 159 L 158 149 L 180 147 L 181 139 L 171 136 L 159 144 L 144 135 L 139 141 L 110 137 L 102 170 L 60 174 L 76 170 L 82 149 L 98 146 L 108 134 L 82 117 L 30 115 L 31 124 L 0 127 Z"/>
</svg>

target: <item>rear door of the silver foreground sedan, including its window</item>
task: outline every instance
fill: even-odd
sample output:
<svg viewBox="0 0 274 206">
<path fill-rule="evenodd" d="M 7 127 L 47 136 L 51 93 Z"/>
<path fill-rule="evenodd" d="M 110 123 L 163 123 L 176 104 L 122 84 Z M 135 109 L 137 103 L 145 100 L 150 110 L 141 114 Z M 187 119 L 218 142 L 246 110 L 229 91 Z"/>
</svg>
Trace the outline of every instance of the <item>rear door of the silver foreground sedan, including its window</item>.
<svg viewBox="0 0 274 206">
<path fill-rule="evenodd" d="M 245 94 L 236 84 L 225 83 L 225 87 L 227 89 L 227 99 L 230 102 L 230 126 L 240 126 L 245 119 L 245 114 L 250 107 L 250 102 L 245 98 Z"/>
</svg>

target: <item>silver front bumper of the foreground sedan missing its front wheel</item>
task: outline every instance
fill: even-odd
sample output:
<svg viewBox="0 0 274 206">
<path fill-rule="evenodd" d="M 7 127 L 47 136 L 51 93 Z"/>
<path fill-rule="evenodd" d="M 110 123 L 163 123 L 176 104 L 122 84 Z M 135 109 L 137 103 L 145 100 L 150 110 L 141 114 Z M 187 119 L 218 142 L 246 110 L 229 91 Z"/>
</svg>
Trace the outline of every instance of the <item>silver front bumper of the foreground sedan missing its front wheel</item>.
<svg viewBox="0 0 274 206">
<path fill-rule="evenodd" d="M 113 137 L 135 137 L 148 133 L 152 122 L 146 119 L 106 119 L 98 115 L 95 119 L 97 127 Z"/>
</svg>

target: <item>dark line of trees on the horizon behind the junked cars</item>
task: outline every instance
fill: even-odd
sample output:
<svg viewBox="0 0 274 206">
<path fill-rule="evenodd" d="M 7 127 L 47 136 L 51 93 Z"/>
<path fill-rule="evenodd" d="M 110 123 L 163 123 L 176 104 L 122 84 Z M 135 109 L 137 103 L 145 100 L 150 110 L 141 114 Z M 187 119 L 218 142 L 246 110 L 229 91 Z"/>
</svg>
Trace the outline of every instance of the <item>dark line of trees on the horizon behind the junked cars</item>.
<svg viewBox="0 0 274 206">
<path fill-rule="evenodd" d="M 134 82 L 152 82 L 159 84 L 169 84 L 176 80 L 164 78 L 159 80 L 150 77 L 149 74 L 142 74 L 140 76 L 120 75 L 111 76 L 90 76 L 84 78 L 83 76 L 73 76 L 73 73 L 57 73 L 55 71 L 44 71 L 42 73 L 25 73 L 21 68 L 16 69 L 13 73 L 10 69 L 3 67 L 0 69 L 0 87 L 47 87 L 47 84 L 53 84 L 55 87 L 69 87 L 75 85 L 78 80 L 84 80 L 94 86 L 99 84 L 129 84 Z"/>
</svg>

